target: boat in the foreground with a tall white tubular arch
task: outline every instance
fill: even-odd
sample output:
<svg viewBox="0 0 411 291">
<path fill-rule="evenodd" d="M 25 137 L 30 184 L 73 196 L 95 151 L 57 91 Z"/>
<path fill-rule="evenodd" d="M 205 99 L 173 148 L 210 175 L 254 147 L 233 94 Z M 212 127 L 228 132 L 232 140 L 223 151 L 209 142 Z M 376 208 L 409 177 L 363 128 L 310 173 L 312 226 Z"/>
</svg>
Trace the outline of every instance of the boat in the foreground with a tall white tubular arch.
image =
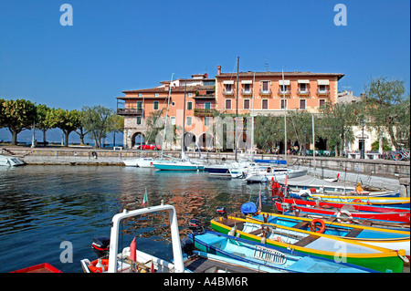
<svg viewBox="0 0 411 291">
<path fill-rule="evenodd" d="M 135 240 L 119 253 L 121 221 L 123 219 L 163 211 L 168 212 L 170 217 L 173 247 L 173 260 L 171 262 L 138 250 Z M 259 265 L 256 264 L 247 264 L 231 258 L 223 258 L 219 255 L 198 252 L 193 250 L 189 244 L 183 244 L 182 247 L 177 215 L 173 205 L 158 205 L 130 212 L 124 210 L 122 213 L 115 214 L 111 221 L 110 238 L 95 238 L 92 246 L 97 259 L 90 261 L 90 259 L 85 258 L 80 261 L 84 273 L 262 272 L 258 269 Z"/>
</svg>

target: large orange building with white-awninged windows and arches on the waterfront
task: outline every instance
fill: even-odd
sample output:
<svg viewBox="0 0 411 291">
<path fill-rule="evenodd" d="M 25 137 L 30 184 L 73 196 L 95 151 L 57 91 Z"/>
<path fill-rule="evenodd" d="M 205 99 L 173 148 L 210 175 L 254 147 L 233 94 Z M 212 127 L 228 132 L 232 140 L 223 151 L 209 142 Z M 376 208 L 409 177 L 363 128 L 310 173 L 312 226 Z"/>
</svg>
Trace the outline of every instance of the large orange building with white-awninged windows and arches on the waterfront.
<svg viewBox="0 0 411 291">
<path fill-rule="evenodd" d="M 294 71 L 284 72 L 283 80 L 282 72 L 240 72 L 237 84 L 237 73 L 222 73 L 221 66 L 217 70 L 216 78 L 196 74 L 163 81 L 155 88 L 123 91 L 125 96 L 117 98 L 117 112 L 125 117 L 124 146 L 136 146 L 136 137 L 142 132 L 147 137 L 147 118 L 162 109 L 165 117 L 168 105 L 167 122 L 176 125 L 177 138 L 166 143 L 164 149 L 181 149 L 183 124 L 186 146 L 194 141 L 205 149 L 220 148 L 221 144 L 216 145 L 215 141 L 216 112 L 236 113 L 237 109 L 238 114 L 250 114 L 253 104 L 254 115 L 283 115 L 284 109 L 318 112 L 325 102 L 337 101 L 338 81 L 344 76 Z"/>
</svg>

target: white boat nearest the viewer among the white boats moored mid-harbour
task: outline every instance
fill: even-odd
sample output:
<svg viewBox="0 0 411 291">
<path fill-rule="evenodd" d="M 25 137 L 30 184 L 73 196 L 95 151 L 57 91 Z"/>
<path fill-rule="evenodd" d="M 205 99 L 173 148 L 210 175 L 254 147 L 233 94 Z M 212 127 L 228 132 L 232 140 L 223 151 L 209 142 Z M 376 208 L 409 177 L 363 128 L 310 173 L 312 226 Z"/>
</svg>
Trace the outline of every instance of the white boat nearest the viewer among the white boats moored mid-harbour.
<svg viewBox="0 0 411 291">
<path fill-rule="evenodd" d="M 289 169 L 277 167 L 258 167 L 247 171 L 244 180 L 247 182 L 261 182 L 269 180 L 285 180 L 287 176 L 289 179 L 301 177 L 307 174 L 307 169 Z"/>
</svg>

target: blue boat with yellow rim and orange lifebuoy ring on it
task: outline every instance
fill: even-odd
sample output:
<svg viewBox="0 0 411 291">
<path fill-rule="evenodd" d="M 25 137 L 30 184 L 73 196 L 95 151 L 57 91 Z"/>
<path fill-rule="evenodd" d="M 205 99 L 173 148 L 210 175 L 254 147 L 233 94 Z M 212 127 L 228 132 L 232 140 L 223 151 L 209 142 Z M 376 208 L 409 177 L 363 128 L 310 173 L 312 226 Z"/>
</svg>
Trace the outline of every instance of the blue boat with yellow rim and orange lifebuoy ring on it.
<svg viewBox="0 0 411 291">
<path fill-rule="evenodd" d="M 391 230 L 351 223 L 338 223 L 320 218 L 304 218 L 278 213 L 248 213 L 247 219 L 262 223 L 297 228 L 304 231 L 329 234 L 339 238 L 372 244 L 392 250 L 404 249 L 410 255 L 410 233 L 407 230 Z"/>
</svg>

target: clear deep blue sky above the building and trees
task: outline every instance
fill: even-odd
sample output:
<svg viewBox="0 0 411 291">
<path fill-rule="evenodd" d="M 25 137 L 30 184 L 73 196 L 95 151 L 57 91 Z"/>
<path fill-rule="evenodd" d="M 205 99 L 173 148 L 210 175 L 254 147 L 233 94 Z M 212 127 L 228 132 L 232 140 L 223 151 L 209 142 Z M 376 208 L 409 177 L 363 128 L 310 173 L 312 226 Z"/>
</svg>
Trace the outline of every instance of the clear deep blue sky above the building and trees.
<svg viewBox="0 0 411 291">
<path fill-rule="evenodd" d="M 73 26 L 60 25 L 65 3 Z M 334 25 L 339 3 L 347 26 Z M 408 0 L 1 0 L 0 98 L 115 109 L 122 90 L 234 72 L 237 57 L 240 71 L 343 73 L 354 95 L 381 76 L 409 92 L 409 11 Z"/>
</svg>

